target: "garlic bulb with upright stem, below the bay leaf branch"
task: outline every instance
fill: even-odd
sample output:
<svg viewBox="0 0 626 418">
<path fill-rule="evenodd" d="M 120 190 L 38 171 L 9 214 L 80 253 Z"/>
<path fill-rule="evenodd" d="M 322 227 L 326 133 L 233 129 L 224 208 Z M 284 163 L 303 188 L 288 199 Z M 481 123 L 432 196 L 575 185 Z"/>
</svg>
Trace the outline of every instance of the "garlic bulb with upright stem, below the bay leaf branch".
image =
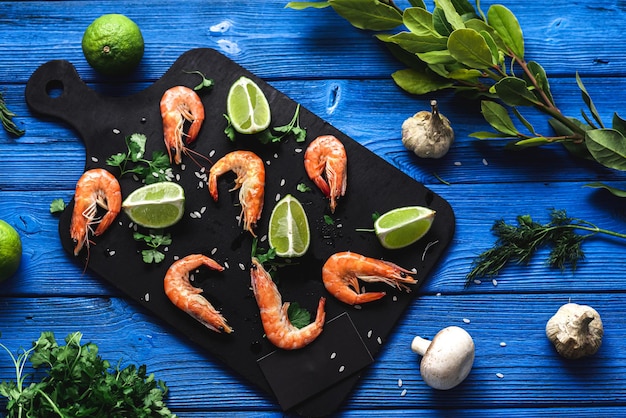
<svg viewBox="0 0 626 418">
<path fill-rule="evenodd" d="M 422 110 L 402 123 L 402 144 L 418 157 L 441 158 L 454 142 L 454 131 L 437 101 L 431 100 L 430 106 L 432 111 Z"/>
</svg>

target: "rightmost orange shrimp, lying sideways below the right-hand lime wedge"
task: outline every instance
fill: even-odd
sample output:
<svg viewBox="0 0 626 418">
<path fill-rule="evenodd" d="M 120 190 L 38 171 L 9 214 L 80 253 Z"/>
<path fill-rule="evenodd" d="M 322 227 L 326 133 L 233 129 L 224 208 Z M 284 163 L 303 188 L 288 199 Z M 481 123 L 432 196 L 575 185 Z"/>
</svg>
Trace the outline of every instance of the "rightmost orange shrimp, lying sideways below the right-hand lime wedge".
<svg viewBox="0 0 626 418">
<path fill-rule="evenodd" d="M 416 284 L 410 274 L 393 263 L 369 258 L 350 251 L 330 256 L 322 268 L 322 281 L 326 290 L 348 305 L 372 302 L 385 296 L 385 292 L 361 293 L 358 279 L 365 282 L 384 282 L 410 292 L 407 284 Z"/>
</svg>

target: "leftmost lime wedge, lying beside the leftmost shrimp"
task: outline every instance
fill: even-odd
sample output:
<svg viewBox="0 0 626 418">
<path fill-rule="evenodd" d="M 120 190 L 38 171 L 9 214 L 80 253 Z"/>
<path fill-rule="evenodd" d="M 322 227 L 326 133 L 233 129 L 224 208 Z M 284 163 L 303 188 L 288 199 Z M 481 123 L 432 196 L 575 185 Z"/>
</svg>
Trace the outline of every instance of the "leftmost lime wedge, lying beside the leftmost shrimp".
<svg viewBox="0 0 626 418">
<path fill-rule="evenodd" d="M 138 225 L 167 228 L 183 217 L 185 191 L 179 184 L 169 181 L 148 184 L 128 195 L 122 208 Z"/>
</svg>

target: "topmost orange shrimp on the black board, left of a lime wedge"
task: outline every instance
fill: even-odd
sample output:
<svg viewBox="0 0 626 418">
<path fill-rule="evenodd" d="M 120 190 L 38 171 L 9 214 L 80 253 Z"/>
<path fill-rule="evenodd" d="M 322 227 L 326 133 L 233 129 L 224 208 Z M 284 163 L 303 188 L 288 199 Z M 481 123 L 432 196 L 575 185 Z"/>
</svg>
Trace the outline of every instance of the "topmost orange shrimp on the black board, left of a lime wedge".
<svg viewBox="0 0 626 418">
<path fill-rule="evenodd" d="M 167 147 L 167 154 L 172 162 L 182 162 L 182 153 L 187 153 L 185 145 L 196 140 L 202 122 L 204 121 L 204 106 L 198 94 L 185 86 L 175 86 L 168 89 L 161 98 L 161 118 L 163 119 L 163 138 Z M 185 122 L 190 122 L 185 134 Z M 183 136 L 186 140 L 183 142 Z"/>
</svg>

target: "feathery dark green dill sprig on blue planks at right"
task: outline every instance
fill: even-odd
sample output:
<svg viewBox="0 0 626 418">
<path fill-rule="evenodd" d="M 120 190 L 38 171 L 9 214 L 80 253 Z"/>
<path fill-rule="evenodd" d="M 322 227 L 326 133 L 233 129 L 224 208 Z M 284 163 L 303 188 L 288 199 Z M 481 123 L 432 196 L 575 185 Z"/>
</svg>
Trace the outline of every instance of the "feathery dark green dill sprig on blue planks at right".
<svg viewBox="0 0 626 418">
<path fill-rule="evenodd" d="M 517 226 L 498 220 L 491 228 L 498 238 L 492 248 L 480 254 L 472 263 L 465 285 L 480 277 L 493 277 L 509 262 L 528 264 L 537 250 L 551 246 L 547 263 L 550 267 L 576 270 L 578 261 L 585 258 L 583 240 L 595 234 L 606 234 L 626 239 L 626 234 L 601 229 L 591 222 L 570 218 L 565 210 L 552 209 L 550 222 L 540 224 L 530 215 L 517 217 Z M 586 231 L 579 234 L 576 231 Z"/>
</svg>

